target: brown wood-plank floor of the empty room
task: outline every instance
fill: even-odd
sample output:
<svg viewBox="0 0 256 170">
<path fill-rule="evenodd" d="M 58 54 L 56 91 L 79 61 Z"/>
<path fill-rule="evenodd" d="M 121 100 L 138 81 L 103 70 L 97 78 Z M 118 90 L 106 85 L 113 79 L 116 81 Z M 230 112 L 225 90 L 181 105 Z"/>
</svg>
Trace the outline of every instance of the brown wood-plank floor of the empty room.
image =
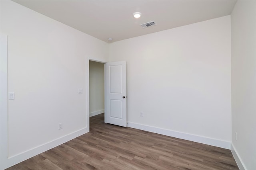
<svg viewBox="0 0 256 170">
<path fill-rule="evenodd" d="M 7 170 L 238 170 L 222 149 L 90 117 L 90 132 Z"/>
</svg>

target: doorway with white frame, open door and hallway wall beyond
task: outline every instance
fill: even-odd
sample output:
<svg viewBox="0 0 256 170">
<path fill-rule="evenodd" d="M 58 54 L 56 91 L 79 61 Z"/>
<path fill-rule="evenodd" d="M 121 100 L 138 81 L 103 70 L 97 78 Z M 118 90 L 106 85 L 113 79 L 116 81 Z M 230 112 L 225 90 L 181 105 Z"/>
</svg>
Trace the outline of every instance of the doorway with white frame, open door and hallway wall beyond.
<svg viewBox="0 0 256 170">
<path fill-rule="evenodd" d="M 89 59 L 87 65 L 87 125 L 90 117 L 104 113 L 104 123 L 127 127 L 126 61 Z"/>
</svg>

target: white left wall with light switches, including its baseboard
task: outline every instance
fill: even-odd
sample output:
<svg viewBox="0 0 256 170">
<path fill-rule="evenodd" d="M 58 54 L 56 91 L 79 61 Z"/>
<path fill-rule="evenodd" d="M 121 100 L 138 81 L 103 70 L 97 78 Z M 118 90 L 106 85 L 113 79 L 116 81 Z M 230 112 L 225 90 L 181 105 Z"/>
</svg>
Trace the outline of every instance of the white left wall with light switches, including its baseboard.
<svg viewBox="0 0 256 170">
<path fill-rule="evenodd" d="M 105 60 L 108 44 L 15 2 L 0 3 L 8 92 L 15 92 L 8 101 L 4 167 L 89 131 L 88 58 Z"/>
</svg>

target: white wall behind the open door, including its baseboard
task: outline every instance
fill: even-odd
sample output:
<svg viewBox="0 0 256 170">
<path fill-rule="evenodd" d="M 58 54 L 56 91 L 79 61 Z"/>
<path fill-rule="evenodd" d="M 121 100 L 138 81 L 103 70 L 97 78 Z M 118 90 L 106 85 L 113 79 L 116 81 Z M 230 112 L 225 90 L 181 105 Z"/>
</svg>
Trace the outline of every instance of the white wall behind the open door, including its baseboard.
<svg viewBox="0 0 256 170">
<path fill-rule="evenodd" d="M 230 16 L 111 43 L 122 60 L 128 126 L 230 148 Z"/>
</svg>

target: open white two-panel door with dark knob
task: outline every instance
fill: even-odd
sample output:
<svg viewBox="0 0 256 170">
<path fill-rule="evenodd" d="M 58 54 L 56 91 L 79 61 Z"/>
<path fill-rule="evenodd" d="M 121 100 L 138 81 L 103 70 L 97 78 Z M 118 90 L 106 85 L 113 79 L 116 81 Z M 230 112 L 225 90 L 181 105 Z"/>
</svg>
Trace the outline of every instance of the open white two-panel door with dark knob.
<svg viewBox="0 0 256 170">
<path fill-rule="evenodd" d="M 105 123 L 127 126 L 126 61 L 106 63 Z"/>
</svg>

